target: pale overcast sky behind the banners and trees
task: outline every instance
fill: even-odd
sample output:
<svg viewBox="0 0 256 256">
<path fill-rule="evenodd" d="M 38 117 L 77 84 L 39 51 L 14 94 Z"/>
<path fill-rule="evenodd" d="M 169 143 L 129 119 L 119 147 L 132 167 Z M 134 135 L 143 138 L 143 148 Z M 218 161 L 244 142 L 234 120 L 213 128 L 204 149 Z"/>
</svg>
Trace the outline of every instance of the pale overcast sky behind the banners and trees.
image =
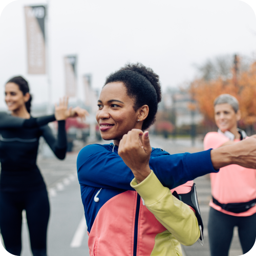
<svg viewBox="0 0 256 256">
<path fill-rule="evenodd" d="M 48 3 L 52 101 L 65 95 L 63 57 L 78 55 L 79 98 L 82 75 L 93 87 L 127 61 L 142 62 L 160 75 L 163 90 L 196 75 L 194 64 L 223 54 L 251 55 L 256 50 L 256 17 L 239 0 L 17 0 L 0 16 L 0 108 L 4 84 L 22 75 L 33 103 L 48 100 L 46 75 L 28 75 L 24 6 Z"/>
</svg>

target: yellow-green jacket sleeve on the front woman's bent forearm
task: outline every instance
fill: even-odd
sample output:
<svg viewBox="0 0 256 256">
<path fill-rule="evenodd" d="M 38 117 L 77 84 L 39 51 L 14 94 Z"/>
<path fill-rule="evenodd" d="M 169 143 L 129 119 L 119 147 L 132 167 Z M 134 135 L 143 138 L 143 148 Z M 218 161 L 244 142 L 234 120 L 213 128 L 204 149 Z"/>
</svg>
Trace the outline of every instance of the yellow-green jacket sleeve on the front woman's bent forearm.
<svg viewBox="0 0 256 256">
<path fill-rule="evenodd" d="M 172 195 L 153 171 L 140 184 L 134 178 L 131 186 L 138 192 L 148 210 L 183 245 L 193 245 L 200 237 L 195 212 Z"/>
</svg>

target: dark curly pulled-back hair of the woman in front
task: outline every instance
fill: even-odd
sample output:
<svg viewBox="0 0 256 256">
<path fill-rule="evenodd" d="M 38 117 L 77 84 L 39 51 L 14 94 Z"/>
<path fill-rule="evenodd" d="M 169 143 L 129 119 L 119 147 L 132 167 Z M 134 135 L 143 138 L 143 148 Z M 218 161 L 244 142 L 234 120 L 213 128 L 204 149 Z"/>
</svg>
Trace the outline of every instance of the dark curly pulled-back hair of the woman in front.
<svg viewBox="0 0 256 256">
<path fill-rule="evenodd" d="M 135 99 L 135 111 L 145 104 L 148 105 L 149 112 L 143 121 L 142 130 L 150 127 L 156 120 L 158 103 L 161 101 L 159 76 L 141 63 L 128 63 L 110 74 L 104 86 L 110 82 L 123 82 L 127 95 Z"/>
</svg>

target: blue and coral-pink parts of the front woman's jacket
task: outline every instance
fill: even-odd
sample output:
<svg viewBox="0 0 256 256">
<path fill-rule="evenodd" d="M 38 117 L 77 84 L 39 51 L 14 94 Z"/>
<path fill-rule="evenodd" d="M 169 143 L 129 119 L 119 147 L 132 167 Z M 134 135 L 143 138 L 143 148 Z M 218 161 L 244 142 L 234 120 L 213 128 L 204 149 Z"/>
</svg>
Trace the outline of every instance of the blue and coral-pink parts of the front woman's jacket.
<svg viewBox="0 0 256 256">
<path fill-rule="evenodd" d="M 150 167 L 169 189 L 218 172 L 212 166 L 210 150 L 169 155 L 152 148 Z M 90 256 L 150 256 L 156 236 L 166 228 L 143 207 L 143 200 L 130 185 L 134 175 L 118 155 L 118 147 L 111 143 L 82 148 L 77 172 Z"/>
</svg>

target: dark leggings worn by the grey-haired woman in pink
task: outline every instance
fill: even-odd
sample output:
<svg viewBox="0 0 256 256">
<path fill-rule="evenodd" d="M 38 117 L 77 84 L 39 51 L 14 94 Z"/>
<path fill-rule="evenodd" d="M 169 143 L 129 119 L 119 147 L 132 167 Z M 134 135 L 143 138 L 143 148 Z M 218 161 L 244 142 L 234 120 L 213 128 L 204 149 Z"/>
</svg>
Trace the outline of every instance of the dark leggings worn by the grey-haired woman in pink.
<svg viewBox="0 0 256 256">
<path fill-rule="evenodd" d="M 228 256 L 234 226 L 238 226 L 239 239 L 245 254 L 256 241 L 256 214 L 237 217 L 210 207 L 208 232 L 211 256 Z"/>
</svg>

